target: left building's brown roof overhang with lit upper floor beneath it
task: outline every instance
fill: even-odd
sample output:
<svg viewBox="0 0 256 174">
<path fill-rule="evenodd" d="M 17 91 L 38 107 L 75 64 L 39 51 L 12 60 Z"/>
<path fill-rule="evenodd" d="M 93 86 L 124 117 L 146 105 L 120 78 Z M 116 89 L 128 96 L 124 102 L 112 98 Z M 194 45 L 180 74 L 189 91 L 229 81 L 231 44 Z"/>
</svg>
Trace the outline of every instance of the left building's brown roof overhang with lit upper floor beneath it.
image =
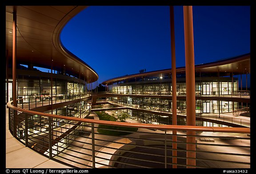
<svg viewBox="0 0 256 174">
<path fill-rule="evenodd" d="M 84 8 L 6 6 L 7 102 L 13 99 L 12 91 L 18 103 L 67 99 L 88 92 L 98 74 L 60 41 L 62 28 Z"/>
</svg>

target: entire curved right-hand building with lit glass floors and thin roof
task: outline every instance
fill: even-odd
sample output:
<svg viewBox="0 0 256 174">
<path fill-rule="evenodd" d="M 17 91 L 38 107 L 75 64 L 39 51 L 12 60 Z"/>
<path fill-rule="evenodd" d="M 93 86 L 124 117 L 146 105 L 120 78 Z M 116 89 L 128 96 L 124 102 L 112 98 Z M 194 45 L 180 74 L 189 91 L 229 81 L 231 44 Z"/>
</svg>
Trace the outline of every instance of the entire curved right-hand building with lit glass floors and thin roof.
<svg viewBox="0 0 256 174">
<path fill-rule="evenodd" d="M 250 92 L 238 85 L 238 76 L 250 73 L 250 54 L 195 66 L 196 115 L 239 114 L 248 111 Z M 235 77 L 234 77 L 235 76 Z M 246 79 L 247 84 L 248 79 Z M 172 70 L 137 73 L 104 81 L 111 104 L 131 107 L 128 115 L 134 120 L 152 124 L 172 124 Z M 177 115 L 185 124 L 185 67 L 176 69 Z M 242 105 L 241 105 L 242 104 Z M 242 108 L 243 107 L 243 108 Z M 246 115 L 246 114 L 245 114 Z M 219 122 L 216 122 L 220 124 Z M 197 121 L 197 125 L 204 125 Z M 231 126 L 231 125 L 230 125 Z M 233 125 L 234 126 L 234 125 Z"/>
</svg>

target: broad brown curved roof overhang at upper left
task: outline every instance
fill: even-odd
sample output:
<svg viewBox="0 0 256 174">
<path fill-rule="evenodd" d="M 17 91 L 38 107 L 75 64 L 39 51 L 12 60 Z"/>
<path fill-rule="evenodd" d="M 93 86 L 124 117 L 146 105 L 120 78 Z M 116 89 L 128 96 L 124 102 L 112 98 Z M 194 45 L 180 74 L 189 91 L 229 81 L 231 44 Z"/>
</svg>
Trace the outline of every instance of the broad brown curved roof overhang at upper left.
<svg viewBox="0 0 256 174">
<path fill-rule="evenodd" d="M 57 71 L 74 77 L 97 81 L 95 70 L 69 52 L 60 41 L 63 27 L 87 6 L 6 6 L 6 54 L 12 61 L 12 24 L 16 11 L 17 63 Z"/>
</svg>

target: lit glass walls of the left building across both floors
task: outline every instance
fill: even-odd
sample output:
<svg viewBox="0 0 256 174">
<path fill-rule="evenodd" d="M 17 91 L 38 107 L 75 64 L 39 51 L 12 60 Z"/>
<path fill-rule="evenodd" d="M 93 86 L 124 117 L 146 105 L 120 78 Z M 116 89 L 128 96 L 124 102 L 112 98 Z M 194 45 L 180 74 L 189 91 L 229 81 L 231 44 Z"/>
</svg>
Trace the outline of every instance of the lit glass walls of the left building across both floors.
<svg viewBox="0 0 256 174">
<path fill-rule="evenodd" d="M 24 75 L 22 75 L 23 73 L 21 72 L 23 72 Z M 61 102 L 62 99 L 67 99 L 62 101 L 72 101 L 75 99 L 79 99 L 79 97 L 82 95 L 89 96 L 87 89 L 88 84 L 86 83 L 86 81 L 83 81 L 76 77 L 69 77 L 64 74 L 55 74 L 54 77 L 51 78 L 49 75 L 50 73 L 44 72 L 37 72 L 37 74 L 39 75 L 34 76 L 34 72 L 35 71 L 33 70 L 20 72 L 18 71 L 19 75 L 16 79 L 16 95 L 19 99 L 18 104 L 22 103 L 22 107 L 24 103 L 33 106 L 36 106 L 36 104 L 41 103 L 48 105 L 50 104 L 50 101 L 59 100 Z M 12 101 L 12 79 L 8 79 L 8 89 L 6 87 L 6 96 L 8 97 L 8 101 Z M 63 107 L 54 108 L 44 113 L 84 118 L 89 115 L 91 108 L 91 101 L 84 99 L 82 101 L 70 105 L 63 104 Z M 29 117 L 28 134 L 30 135 L 47 131 L 49 127 L 48 121 L 49 119 L 47 116 L 34 115 Z M 53 119 L 54 128 L 64 127 L 64 125 L 67 123 L 68 120 Z M 24 136 L 24 132 L 19 132 L 18 136 Z"/>
</svg>

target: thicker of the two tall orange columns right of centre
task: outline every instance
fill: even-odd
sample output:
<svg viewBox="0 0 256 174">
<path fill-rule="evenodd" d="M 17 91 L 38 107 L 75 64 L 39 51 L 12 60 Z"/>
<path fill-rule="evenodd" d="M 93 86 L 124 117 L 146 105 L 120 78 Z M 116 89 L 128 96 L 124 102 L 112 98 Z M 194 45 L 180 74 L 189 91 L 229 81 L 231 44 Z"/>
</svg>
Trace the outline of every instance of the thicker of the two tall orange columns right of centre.
<svg viewBox="0 0 256 174">
<path fill-rule="evenodd" d="M 187 125 L 196 125 L 196 87 L 192 6 L 183 6 L 184 10 L 184 38 L 185 38 L 185 66 L 186 66 L 186 104 Z M 195 131 L 187 131 L 187 168 L 196 166 L 196 135 Z M 192 136 L 191 136 L 192 135 Z"/>
</svg>

